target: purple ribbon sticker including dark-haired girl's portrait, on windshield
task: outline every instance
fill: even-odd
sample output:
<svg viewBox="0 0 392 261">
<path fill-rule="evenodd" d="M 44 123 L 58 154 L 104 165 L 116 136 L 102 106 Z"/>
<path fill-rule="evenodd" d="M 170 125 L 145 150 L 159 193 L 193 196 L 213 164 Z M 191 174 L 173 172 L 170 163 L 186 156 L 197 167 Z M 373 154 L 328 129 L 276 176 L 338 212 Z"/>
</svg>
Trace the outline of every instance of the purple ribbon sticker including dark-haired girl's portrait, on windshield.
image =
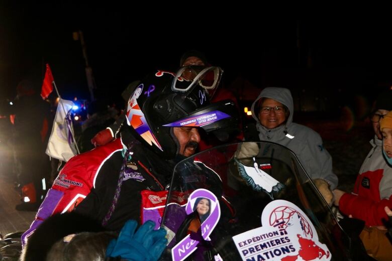
<svg viewBox="0 0 392 261">
<path fill-rule="evenodd" d="M 211 232 L 221 217 L 217 197 L 206 189 L 197 189 L 189 195 L 185 211 L 188 215 L 185 220 L 190 218 L 190 222 L 186 222 L 186 236 L 171 249 L 174 261 L 185 259 L 197 249 L 200 241 L 191 239 L 190 234 L 200 234 L 200 240 L 210 241 Z"/>
</svg>

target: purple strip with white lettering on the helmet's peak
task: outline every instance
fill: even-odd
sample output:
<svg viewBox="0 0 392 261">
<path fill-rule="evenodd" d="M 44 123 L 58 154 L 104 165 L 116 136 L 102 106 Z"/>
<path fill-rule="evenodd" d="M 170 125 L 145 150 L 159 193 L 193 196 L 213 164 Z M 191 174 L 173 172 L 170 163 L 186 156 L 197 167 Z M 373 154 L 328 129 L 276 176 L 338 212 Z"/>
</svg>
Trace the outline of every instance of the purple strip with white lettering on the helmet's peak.
<svg viewBox="0 0 392 261">
<path fill-rule="evenodd" d="M 230 118 L 231 116 L 219 111 L 219 110 L 213 110 L 210 112 L 206 112 L 203 114 L 199 114 L 196 116 L 191 116 L 187 118 L 183 118 L 174 122 L 171 122 L 169 124 L 163 125 L 167 127 L 202 127 L 204 125 L 216 122 L 221 119 L 225 118 Z"/>
</svg>

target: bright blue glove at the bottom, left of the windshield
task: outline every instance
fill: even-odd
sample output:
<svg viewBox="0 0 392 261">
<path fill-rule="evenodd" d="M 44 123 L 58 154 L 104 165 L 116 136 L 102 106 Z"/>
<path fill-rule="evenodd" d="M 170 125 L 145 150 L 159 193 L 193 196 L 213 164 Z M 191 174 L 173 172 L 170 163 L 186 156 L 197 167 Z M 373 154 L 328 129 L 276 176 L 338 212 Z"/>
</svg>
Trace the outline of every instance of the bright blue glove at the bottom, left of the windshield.
<svg viewBox="0 0 392 261">
<path fill-rule="evenodd" d="M 166 230 L 154 230 L 155 222 L 147 221 L 136 231 L 137 222 L 128 220 L 121 229 L 117 239 L 110 241 L 106 256 L 117 257 L 132 261 L 158 260 L 166 247 Z"/>
</svg>

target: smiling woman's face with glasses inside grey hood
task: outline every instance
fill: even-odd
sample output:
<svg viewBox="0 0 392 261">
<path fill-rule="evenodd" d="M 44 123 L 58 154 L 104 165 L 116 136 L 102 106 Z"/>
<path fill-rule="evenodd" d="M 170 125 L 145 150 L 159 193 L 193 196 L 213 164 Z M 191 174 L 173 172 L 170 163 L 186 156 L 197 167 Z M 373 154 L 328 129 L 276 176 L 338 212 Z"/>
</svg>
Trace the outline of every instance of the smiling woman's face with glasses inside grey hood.
<svg viewBox="0 0 392 261">
<path fill-rule="evenodd" d="M 276 113 L 274 109 L 276 106 L 283 107 L 283 110 Z M 268 113 L 263 113 L 263 107 L 272 107 L 273 109 L 271 108 Z M 283 104 L 270 98 L 266 98 L 260 105 L 258 116 L 261 125 L 266 128 L 275 128 L 286 120 L 286 113 Z"/>
</svg>

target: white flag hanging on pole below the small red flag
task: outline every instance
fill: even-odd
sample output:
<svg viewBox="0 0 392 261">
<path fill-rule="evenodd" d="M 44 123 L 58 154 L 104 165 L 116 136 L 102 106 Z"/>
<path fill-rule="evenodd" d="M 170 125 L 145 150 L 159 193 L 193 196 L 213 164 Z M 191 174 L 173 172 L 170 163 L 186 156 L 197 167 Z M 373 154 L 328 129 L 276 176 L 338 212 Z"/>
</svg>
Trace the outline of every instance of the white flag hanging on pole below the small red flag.
<svg viewBox="0 0 392 261">
<path fill-rule="evenodd" d="M 68 161 L 76 154 L 74 141 L 71 136 L 71 132 L 73 133 L 72 121 L 67 121 L 66 119 L 73 105 L 73 102 L 70 100 L 59 99 L 52 133 L 46 148 L 47 155 L 62 161 Z"/>
</svg>

